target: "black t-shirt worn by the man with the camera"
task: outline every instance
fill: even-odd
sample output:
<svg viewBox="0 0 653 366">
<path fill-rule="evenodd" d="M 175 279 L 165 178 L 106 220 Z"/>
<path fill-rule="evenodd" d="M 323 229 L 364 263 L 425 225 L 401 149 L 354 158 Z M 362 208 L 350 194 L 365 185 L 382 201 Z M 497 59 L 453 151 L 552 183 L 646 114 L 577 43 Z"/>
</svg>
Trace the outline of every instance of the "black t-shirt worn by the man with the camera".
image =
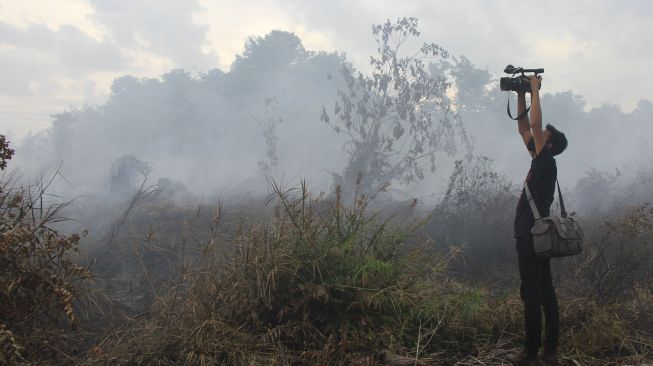
<svg viewBox="0 0 653 366">
<path fill-rule="evenodd" d="M 545 146 L 531 162 L 531 169 L 526 177 L 528 189 L 531 191 L 541 217 L 549 216 L 557 174 L 556 161 L 551 150 Z M 522 189 L 515 212 L 515 238 L 530 239 L 534 223 L 535 217 L 528 204 L 526 191 Z"/>
</svg>

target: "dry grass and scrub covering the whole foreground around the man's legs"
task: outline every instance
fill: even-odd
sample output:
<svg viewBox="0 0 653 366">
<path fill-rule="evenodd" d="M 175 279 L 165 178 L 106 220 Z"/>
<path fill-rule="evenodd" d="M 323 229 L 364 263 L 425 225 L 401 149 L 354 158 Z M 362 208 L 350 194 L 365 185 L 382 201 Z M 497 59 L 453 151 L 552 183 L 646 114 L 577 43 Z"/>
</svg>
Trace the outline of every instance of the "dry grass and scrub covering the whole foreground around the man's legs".
<svg viewBox="0 0 653 366">
<path fill-rule="evenodd" d="M 220 204 L 179 209 L 139 192 L 86 253 L 103 255 L 89 280 L 71 260 L 79 238 L 49 227 L 60 206 L 35 200 L 43 188 L 4 188 L 0 201 L 2 260 L 20 269 L 2 273 L 11 316 L 0 362 L 502 365 L 519 347 L 516 288 L 452 276 L 459 248 L 434 251 L 415 235 L 423 221 L 370 214 L 368 197 L 275 187 L 260 214 L 229 217 Z M 646 206 L 625 212 L 596 226 L 585 257 L 560 265 L 566 364 L 650 362 L 650 223 Z M 638 254 L 628 277 L 623 250 Z M 581 291 L 596 273 L 606 285 Z"/>
</svg>

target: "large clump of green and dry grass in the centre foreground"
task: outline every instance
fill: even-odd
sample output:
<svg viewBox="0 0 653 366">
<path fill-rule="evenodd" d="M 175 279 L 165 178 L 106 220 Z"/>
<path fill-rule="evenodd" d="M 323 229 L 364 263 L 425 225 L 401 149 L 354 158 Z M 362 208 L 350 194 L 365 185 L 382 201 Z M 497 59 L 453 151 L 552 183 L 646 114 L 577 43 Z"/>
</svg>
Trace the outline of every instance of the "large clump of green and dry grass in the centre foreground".
<svg viewBox="0 0 653 366">
<path fill-rule="evenodd" d="M 374 364 L 492 333 L 475 325 L 490 312 L 484 290 L 445 275 L 450 254 L 405 248 L 414 227 L 368 215 L 361 195 L 345 207 L 339 193 L 276 192 L 272 218 L 240 226 L 232 245 L 209 238 L 205 260 L 159 289 L 153 317 L 89 362 Z"/>
</svg>

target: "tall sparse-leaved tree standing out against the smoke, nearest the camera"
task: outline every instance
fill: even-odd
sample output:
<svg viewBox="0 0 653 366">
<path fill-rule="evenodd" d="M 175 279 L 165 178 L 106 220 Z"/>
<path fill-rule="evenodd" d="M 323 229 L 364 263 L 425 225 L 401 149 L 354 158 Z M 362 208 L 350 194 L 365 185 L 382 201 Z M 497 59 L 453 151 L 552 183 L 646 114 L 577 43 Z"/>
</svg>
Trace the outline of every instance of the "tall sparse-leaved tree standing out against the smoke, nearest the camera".
<svg viewBox="0 0 653 366">
<path fill-rule="evenodd" d="M 332 113 L 323 107 L 321 120 L 337 133 L 346 133 L 349 154 L 337 184 L 356 185 L 370 192 L 392 181 L 410 183 L 435 171 L 438 152 L 454 154 L 456 140 L 469 147 L 459 115 L 447 96 L 451 84 L 433 76 L 425 61 L 446 59 L 447 51 L 424 43 L 416 53 L 400 48 L 420 35 L 416 18 L 374 25 L 378 54 L 370 58 L 371 73 L 364 75 L 344 64 L 345 88 L 339 90 Z M 428 164 L 428 165 L 427 165 Z"/>
</svg>

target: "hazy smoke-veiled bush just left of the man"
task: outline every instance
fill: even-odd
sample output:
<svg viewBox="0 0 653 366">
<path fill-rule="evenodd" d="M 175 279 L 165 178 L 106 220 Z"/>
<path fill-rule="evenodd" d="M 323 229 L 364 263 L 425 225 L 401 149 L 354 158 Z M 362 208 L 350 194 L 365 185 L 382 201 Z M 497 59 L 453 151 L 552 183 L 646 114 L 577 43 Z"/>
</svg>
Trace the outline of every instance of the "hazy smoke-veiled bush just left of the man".
<svg viewBox="0 0 653 366">
<path fill-rule="evenodd" d="M 513 185 L 494 171 L 492 160 L 457 161 L 443 200 L 435 207 L 425 234 L 435 244 L 460 246 L 464 261 L 454 268 L 474 280 L 512 277 Z"/>
</svg>

